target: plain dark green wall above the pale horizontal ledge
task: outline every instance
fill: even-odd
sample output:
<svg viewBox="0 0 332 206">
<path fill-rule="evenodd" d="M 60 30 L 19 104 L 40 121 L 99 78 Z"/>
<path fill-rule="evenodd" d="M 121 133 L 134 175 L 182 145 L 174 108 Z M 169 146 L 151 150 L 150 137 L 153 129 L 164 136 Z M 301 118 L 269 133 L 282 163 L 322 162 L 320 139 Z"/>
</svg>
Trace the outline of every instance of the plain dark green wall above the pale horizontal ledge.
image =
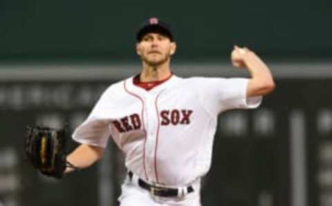
<svg viewBox="0 0 332 206">
<path fill-rule="evenodd" d="M 147 17 L 172 22 L 178 59 L 228 57 L 232 45 L 268 57 L 331 58 L 331 1 L 10 1 L 0 3 L 0 60 L 135 59 Z"/>
</svg>

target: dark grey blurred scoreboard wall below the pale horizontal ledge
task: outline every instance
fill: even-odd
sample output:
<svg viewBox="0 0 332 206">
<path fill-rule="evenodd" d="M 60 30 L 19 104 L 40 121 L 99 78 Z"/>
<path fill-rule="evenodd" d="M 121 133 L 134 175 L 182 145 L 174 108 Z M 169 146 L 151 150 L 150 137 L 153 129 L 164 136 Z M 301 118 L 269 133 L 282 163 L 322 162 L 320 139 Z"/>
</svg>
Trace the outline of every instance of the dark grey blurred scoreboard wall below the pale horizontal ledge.
<svg viewBox="0 0 332 206">
<path fill-rule="evenodd" d="M 100 163 L 62 181 L 44 178 L 24 162 L 24 133 L 27 124 L 41 122 L 60 126 L 67 122 L 73 129 L 86 118 L 109 83 L 1 82 L 0 177 L 3 181 L 15 176 L 18 184 L 0 189 L 0 203 L 1 198 L 7 198 L 18 205 L 100 205 Z M 331 79 L 277 79 L 277 90 L 264 98 L 259 109 L 223 113 L 216 133 L 212 169 L 203 179 L 203 205 L 292 205 L 296 182 L 291 172 L 290 119 L 293 111 L 301 111 L 305 122 L 302 129 L 307 152 L 303 156 L 308 192 L 303 198 L 307 205 L 326 206 L 320 200 L 323 194 L 331 195 L 332 187 L 324 179 L 317 179 L 322 173 L 331 176 L 332 99 L 326 89 L 329 87 Z M 70 142 L 68 151 L 75 147 Z M 323 147 L 325 156 L 321 152 Z M 8 148 L 17 159 L 12 166 L 6 166 L 3 158 L 5 154 L 9 156 Z M 113 188 L 109 196 L 116 205 L 125 171 L 114 144 L 109 144 L 109 151 L 111 158 L 106 163 L 111 169 L 109 184 Z M 4 188 L 3 182 L 0 186 Z"/>
</svg>

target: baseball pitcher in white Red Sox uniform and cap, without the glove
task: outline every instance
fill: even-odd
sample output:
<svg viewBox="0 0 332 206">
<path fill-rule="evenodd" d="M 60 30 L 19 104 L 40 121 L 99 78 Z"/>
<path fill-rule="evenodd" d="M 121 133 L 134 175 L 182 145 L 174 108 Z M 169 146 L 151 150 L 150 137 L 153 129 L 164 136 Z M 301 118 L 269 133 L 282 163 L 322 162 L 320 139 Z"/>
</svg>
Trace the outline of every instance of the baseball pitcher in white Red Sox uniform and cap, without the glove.
<svg viewBox="0 0 332 206">
<path fill-rule="evenodd" d="M 238 46 L 232 64 L 248 69 L 250 78 L 178 77 L 170 68 L 176 53 L 173 32 L 157 18 L 145 21 L 136 39 L 142 70 L 109 86 L 75 129 L 73 140 L 81 144 L 66 156 L 73 167 L 64 173 L 92 165 L 113 139 L 127 167 L 121 206 L 199 206 L 217 116 L 257 108 L 274 90 L 273 77 L 252 50 Z"/>
</svg>

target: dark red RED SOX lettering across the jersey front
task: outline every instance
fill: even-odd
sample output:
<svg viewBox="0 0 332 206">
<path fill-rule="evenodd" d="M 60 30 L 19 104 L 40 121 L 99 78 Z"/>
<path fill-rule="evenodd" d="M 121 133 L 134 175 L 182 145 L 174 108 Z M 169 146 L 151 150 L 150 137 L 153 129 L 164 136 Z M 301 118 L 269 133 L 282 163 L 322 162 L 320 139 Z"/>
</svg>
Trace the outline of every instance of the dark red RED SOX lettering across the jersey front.
<svg viewBox="0 0 332 206">
<path fill-rule="evenodd" d="M 192 110 L 188 109 L 172 109 L 164 110 L 160 112 L 160 118 L 162 119 L 161 125 L 167 126 L 178 125 L 178 124 L 190 124 L 190 115 L 192 115 Z M 114 120 L 113 125 L 118 129 L 119 133 L 124 133 L 127 131 L 132 131 L 140 129 L 142 126 L 142 120 L 140 120 L 140 115 L 137 113 L 125 116 L 120 120 Z"/>
</svg>

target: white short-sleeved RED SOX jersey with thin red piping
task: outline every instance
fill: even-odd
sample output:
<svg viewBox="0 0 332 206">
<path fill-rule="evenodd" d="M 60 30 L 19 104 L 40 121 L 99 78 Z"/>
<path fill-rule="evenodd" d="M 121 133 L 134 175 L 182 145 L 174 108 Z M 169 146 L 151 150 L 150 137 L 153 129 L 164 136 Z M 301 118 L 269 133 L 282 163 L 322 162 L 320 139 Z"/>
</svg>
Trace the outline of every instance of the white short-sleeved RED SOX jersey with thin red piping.
<svg viewBox="0 0 332 206">
<path fill-rule="evenodd" d="M 259 106 L 246 98 L 246 78 L 181 78 L 173 75 L 146 91 L 133 77 L 107 88 L 73 139 L 125 154 L 134 174 L 160 185 L 188 185 L 210 169 L 217 115 Z"/>
</svg>

